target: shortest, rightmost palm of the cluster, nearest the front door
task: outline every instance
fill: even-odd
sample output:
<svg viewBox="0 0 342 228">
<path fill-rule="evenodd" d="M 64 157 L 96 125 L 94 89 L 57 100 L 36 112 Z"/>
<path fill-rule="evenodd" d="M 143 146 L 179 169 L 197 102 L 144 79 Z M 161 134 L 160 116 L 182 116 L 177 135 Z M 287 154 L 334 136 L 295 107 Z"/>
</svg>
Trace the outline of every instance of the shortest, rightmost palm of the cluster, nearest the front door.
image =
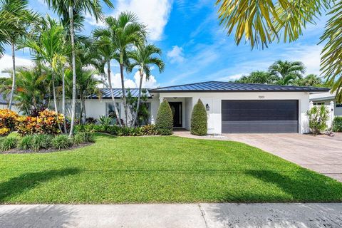
<svg viewBox="0 0 342 228">
<path fill-rule="evenodd" d="M 134 67 L 138 67 L 138 71 L 140 74 L 140 82 L 139 82 L 139 94 L 138 94 L 138 103 L 137 103 L 137 110 L 135 110 L 135 115 L 133 118 L 132 125 L 135 126 L 135 123 L 138 118 L 139 108 L 140 108 L 140 98 L 141 98 L 141 87 L 142 87 L 142 78 L 145 74 L 146 80 L 150 78 L 150 66 L 155 65 L 159 69 L 159 72 L 162 73 L 164 70 L 164 62 L 161 58 L 158 58 L 157 55 L 161 55 L 162 51 L 160 48 L 157 48 L 156 46 L 152 44 L 142 44 L 137 46 L 135 51 L 132 51 L 128 53 L 128 58 L 130 58 L 133 62 L 130 64 L 128 68 L 128 72 L 132 72 Z"/>
</svg>

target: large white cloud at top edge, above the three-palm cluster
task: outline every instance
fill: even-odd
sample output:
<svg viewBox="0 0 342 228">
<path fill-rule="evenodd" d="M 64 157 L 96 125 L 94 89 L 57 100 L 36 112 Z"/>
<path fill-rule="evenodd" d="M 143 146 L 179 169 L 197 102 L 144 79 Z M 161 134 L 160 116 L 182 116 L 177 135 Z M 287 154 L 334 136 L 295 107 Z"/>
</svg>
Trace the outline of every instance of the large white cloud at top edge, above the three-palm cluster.
<svg viewBox="0 0 342 228">
<path fill-rule="evenodd" d="M 173 0 L 118 0 L 112 16 L 118 16 L 120 12 L 132 11 L 138 16 L 140 22 L 147 26 L 149 38 L 152 41 L 160 41 L 164 28 L 170 16 Z M 102 22 L 96 23 L 91 16 L 86 16 L 91 25 L 103 26 Z"/>
</svg>

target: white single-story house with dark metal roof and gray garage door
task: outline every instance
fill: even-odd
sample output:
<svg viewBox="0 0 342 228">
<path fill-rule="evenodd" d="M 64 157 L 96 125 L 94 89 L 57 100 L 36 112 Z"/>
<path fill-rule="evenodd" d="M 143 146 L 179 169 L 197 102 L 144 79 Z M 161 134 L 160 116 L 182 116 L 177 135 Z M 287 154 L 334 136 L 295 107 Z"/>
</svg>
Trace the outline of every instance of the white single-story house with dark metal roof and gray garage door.
<svg viewBox="0 0 342 228">
<path fill-rule="evenodd" d="M 308 133 L 309 95 L 328 92 L 328 88 L 274 86 L 265 84 L 208 81 L 147 90 L 150 123 L 166 99 L 174 114 L 174 127 L 190 130 L 192 108 L 201 99 L 207 109 L 208 133 Z M 138 89 L 130 89 L 133 96 Z M 99 118 L 113 112 L 110 90 L 102 97 L 86 100 L 87 117 Z M 124 118 L 121 89 L 113 89 Z"/>
</svg>

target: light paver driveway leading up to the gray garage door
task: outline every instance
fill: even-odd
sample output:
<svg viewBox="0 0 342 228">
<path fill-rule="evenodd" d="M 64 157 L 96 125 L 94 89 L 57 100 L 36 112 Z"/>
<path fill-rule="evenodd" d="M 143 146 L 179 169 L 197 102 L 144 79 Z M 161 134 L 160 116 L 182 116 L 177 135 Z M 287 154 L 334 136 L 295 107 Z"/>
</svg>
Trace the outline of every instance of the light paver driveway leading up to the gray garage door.
<svg viewBox="0 0 342 228">
<path fill-rule="evenodd" d="M 189 132 L 175 132 L 175 135 L 191 138 Z M 244 142 L 271 152 L 302 167 L 320 172 L 342 182 L 342 134 L 334 137 L 299 134 L 224 134 L 207 139 Z"/>
</svg>

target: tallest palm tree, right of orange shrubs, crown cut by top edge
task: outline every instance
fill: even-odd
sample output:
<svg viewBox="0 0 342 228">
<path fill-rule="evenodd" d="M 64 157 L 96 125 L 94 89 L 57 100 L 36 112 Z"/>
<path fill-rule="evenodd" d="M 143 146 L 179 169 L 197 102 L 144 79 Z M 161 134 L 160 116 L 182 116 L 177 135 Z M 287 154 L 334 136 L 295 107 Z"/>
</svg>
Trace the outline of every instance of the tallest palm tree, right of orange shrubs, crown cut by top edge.
<svg viewBox="0 0 342 228">
<path fill-rule="evenodd" d="M 102 19 L 103 12 L 100 1 L 93 0 L 45 0 L 49 7 L 52 7 L 59 16 L 63 16 L 64 21 L 69 21 L 70 34 L 71 34 L 71 66 L 73 68 L 73 98 L 72 98 L 72 111 L 71 111 L 71 128 L 70 134 L 73 135 L 73 125 L 76 112 L 76 52 L 75 52 L 75 31 L 73 14 L 74 11 L 89 13 L 95 16 L 95 19 Z M 110 7 L 113 4 L 110 0 L 103 0 L 103 2 Z"/>
</svg>

